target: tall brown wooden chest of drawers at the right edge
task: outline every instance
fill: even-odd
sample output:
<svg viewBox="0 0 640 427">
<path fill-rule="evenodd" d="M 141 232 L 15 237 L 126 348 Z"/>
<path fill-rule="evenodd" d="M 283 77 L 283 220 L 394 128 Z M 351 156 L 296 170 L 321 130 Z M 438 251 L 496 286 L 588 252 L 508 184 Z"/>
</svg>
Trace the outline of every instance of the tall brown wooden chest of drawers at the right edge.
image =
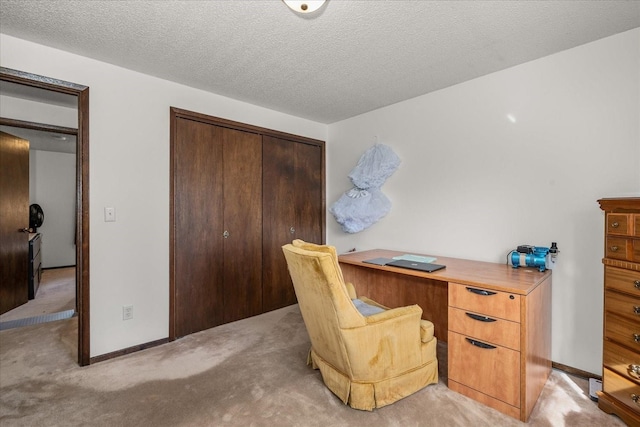
<svg viewBox="0 0 640 427">
<path fill-rule="evenodd" d="M 599 203 L 605 211 L 605 268 L 598 406 L 640 426 L 640 198 Z"/>
</svg>

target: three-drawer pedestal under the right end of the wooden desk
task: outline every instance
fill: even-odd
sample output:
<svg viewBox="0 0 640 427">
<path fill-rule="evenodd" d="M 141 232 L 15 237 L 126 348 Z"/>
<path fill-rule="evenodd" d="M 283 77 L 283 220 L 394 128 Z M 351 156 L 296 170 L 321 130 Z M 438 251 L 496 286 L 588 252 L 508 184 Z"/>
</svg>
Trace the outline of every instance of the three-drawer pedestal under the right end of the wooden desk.
<svg viewBox="0 0 640 427">
<path fill-rule="evenodd" d="M 550 277 L 527 295 L 450 282 L 449 388 L 527 421 L 551 370 L 550 303 Z"/>
</svg>

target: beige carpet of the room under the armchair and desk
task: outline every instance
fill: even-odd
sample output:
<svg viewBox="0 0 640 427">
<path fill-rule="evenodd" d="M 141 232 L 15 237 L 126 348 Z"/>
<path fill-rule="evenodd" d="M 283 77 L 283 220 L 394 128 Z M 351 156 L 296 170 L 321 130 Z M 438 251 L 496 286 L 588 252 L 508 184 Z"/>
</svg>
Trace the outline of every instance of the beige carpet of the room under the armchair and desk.
<svg viewBox="0 0 640 427">
<path fill-rule="evenodd" d="M 345 406 L 305 363 L 297 305 L 82 368 L 76 334 L 77 318 L 0 332 L 0 425 L 525 425 L 446 387 L 446 345 L 438 384 L 373 412 Z M 624 423 L 589 399 L 587 380 L 554 370 L 528 425 Z"/>
</svg>

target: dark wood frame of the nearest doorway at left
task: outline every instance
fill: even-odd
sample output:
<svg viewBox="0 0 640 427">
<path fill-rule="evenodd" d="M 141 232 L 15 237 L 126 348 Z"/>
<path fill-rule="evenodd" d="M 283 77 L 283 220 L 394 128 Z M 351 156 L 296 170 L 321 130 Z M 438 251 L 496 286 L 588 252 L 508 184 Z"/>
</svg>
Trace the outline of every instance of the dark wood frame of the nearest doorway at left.
<svg viewBox="0 0 640 427">
<path fill-rule="evenodd" d="M 76 138 L 76 306 L 78 364 L 91 363 L 89 341 L 89 87 L 0 67 L 0 80 L 74 95 L 78 100 Z M 15 126 L 15 122 L 14 126 Z M 7 123 L 3 123 L 7 124 Z"/>
</svg>

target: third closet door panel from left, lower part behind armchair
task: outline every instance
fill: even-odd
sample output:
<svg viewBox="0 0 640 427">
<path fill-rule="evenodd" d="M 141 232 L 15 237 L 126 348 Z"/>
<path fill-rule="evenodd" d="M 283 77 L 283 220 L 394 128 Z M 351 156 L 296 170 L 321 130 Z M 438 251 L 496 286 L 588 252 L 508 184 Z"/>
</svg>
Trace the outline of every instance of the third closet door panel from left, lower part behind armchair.
<svg viewBox="0 0 640 427">
<path fill-rule="evenodd" d="M 296 238 L 294 142 L 263 138 L 263 250 L 262 307 L 275 310 L 295 304 L 291 276 L 282 246 Z"/>
</svg>

